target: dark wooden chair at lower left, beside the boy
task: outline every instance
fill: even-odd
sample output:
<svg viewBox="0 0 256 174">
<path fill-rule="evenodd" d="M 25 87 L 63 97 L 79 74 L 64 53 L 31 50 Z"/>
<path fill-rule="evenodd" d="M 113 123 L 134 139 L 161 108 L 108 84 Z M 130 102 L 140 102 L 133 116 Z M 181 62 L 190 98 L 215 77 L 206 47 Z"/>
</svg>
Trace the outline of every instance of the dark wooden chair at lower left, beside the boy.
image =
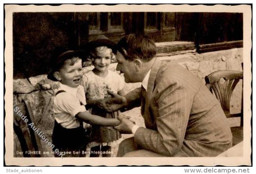
<svg viewBox="0 0 256 174">
<path fill-rule="evenodd" d="M 21 103 L 14 106 L 15 108 L 19 108 L 22 115 L 27 116 L 28 122 L 25 121 L 14 111 L 13 113 L 13 128 L 14 132 L 17 135 L 19 143 L 21 145 L 21 149 L 24 157 L 40 157 L 40 154 L 28 154 L 26 151 L 40 151 L 42 152 L 40 137 L 35 135 L 34 130 L 29 126 L 30 123 L 34 123 L 34 116 L 31 109 L 31 106 L 28 101 L 22 101 Z M 15 109 L 16 110 L 16 109 Z M 34 126 L 36 126 L 34 124 Z M 37 127 L 37 126 L 36 126 Z M 14 143 L 18 143 L 15 142 Z M 14 153 L 15 156 L 16 153 Z"/>
</svg>

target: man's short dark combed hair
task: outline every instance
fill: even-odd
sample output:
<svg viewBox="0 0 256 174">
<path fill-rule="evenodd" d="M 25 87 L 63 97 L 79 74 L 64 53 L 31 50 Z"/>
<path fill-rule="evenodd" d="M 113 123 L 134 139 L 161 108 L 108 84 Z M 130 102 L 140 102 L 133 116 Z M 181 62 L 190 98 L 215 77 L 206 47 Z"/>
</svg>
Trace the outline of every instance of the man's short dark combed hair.
<svg viewBox="0 0 256 174">
<path fill-rule="evenodd" d="M 154 41 L 142 34 L 128 34 L 117 43 L 117 50 L 131 61 L 135 58 L 149 61 L 156 56 Z"/>
</svg>

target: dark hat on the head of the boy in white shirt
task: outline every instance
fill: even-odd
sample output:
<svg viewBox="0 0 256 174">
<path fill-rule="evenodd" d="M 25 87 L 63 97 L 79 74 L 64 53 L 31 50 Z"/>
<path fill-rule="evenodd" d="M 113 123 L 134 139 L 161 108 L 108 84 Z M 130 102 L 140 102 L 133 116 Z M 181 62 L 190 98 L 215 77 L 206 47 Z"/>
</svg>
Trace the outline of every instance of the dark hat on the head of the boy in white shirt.
<svg viewBox="0 0 256 174">
<path fill-rule="evenodd" d="M 48 74 L 47 78 L 49 78 L 50 80 L 53 81 L 58 81 L 53 73 L 56 71 L 59 71 L 64 65 L 65 65 L 65 61 L 67 60 L 71 60 L 70 65 L 74 65 L 76 63 L 77 60 L 81 59 L 80 58 L 80 52 L 79 51 L 73 51 L 73 50 L 69 50 L 69 51 L 65 51 L 64 53 L 62 53 L 61 55 L 59 55 L 57 58 L 54 58 L 52 60 L 52 64 L 51 64 L 51 72 Z"/>
</svg>

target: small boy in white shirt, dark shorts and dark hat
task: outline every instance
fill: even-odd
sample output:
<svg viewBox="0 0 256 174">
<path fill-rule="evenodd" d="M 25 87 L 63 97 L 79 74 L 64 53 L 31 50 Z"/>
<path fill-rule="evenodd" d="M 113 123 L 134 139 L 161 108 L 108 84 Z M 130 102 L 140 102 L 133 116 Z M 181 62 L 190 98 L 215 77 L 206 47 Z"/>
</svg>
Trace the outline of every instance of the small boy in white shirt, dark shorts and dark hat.
<svg viewBox="0 0 256 174">
<path fill-rule="evenodd" d="M 58 56 L 48 78 L 59 81 L 53 105 L 55 124 L 52 141 L 55 150 L 64 152 L 64 157 L 85 156 L 81 150 L 86 149 L 88 142 L 85 132 L 90 131 L 90 125 L 117 126 L 120 121 L 86 111 L 84 88 L 80 85 L 82 60 L 75 51 L 67 51 Z"/>
</svg>

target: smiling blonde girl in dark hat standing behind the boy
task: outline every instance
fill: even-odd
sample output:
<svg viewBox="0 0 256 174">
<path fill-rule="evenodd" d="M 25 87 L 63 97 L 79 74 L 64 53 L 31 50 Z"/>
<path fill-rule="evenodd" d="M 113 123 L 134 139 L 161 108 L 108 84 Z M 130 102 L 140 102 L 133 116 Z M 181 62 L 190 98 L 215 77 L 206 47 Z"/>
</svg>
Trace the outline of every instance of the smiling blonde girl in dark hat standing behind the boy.
<svg viewBox="0 0 256 174">
<path fill-rule="evenodd" d="M 116 112 L 107 112 L 100 107 L 100 99 L 108 97 L 107 90 L 123 95 L 123 78 L 116 72 L 108 70 L 113 58 L 112 49 L 115 43 L 106 36 L 99 36 L 95 41 L 88 43 L 90 50 L 89 59 L 94 65 L 94 69 L 86 72 L 82 77 L 82 85 L 86 93 L 87 106 L 91 114 L 100 115 L 105 118 L 116 118 L 119 114 Z M 112 49 L 111 49 L 112 48 Z M 113 141 L 121 138 L 121 135 L 113 127 L 92 126 L 92 136 L 89 147 L 91 152 L 100 152 L 91 154 L 90 157 L 111 157 L 111 145 Z M 112 155 L 113 156 L 113 155 Z"/>
</svg>

